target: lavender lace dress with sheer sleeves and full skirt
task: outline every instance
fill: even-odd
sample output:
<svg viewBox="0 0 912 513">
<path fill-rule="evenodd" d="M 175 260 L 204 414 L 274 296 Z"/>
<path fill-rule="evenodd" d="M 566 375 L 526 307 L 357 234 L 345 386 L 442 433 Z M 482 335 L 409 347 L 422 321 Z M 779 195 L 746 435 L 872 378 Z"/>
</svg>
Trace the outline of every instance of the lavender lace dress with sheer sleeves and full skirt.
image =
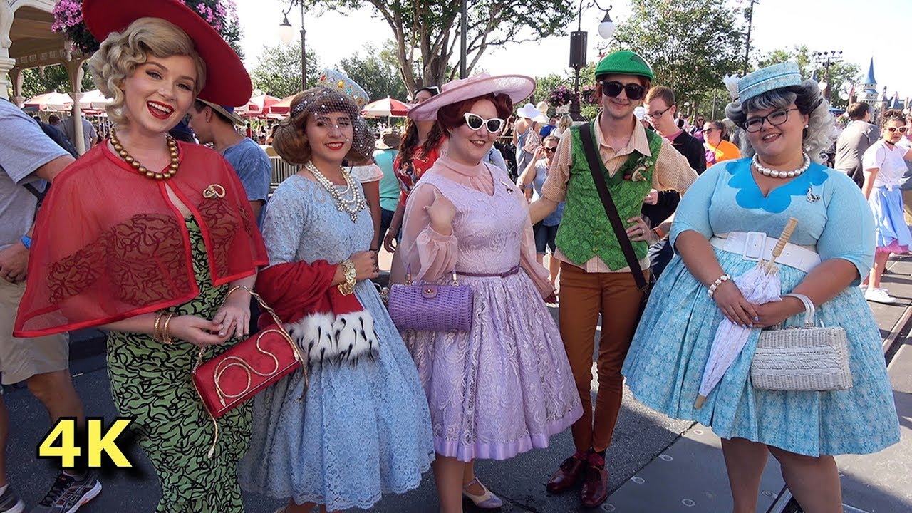
<svg viewBox="0 0 912 513">
<path fill-rule="evenodd" d="M 453 234 L 430 228 L 436 191 L 455 206 Z M 525 198 L 493 166 L 446 157 L 409 197 L 402 248 L 416 278 L 472 287 L 472 330 L 405 331 L 430 403 L 434 448 L 461 461 L 506 459 L 546 447 L 582 414 L 564 344 L 543 296 L 553 291 L 534 260 Z"/>
</svg>

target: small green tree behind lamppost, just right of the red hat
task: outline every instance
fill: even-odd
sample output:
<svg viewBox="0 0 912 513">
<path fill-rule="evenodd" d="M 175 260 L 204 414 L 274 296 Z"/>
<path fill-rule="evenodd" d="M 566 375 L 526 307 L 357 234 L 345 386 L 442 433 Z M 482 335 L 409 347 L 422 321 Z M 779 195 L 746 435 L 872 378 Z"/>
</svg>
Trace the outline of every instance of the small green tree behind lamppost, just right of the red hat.
<svg viewBox="0 0 912 513">
<path fill-rule="evenodd" d="M 313 52 L 307 52 L 307 87 L 316 85 L 320 73 L 319 60 Z M 285 98 L 301 90 L 301 46 L 292 43 L 264 46 L 259 62 L 251 73 L 254 89 Z"/>
</svg>

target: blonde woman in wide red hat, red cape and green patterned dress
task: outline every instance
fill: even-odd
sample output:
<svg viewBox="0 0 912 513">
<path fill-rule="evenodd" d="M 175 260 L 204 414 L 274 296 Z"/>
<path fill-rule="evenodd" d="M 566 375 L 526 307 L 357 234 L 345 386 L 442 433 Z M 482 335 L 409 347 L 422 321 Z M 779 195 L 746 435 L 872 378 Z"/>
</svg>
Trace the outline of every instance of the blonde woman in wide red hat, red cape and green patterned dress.
<svg viewBox="0 0 912 513">
<path fill-rule="evenodd" d="M 102 40 L 89 65 L 113 99 L 116 130 L 47 195 L 16 333 L 109 330 L 111 395 L 155 466 L 156 510 L 241 512 L 235 465 L 250 409 L 221 417 L 216 437 L 191 373 L 200 350 L 209 359 L 248 334 L 250 297 L 233 287 L 254 285 L 266 252 L 228 162 L 168 131 L 197 96 L 244 103 L 250 79 L 222 37 L 176 0 L 82 8 Z M 61 486 L 47 511 L 76 511 L 72 497 Z"/>
</svg>

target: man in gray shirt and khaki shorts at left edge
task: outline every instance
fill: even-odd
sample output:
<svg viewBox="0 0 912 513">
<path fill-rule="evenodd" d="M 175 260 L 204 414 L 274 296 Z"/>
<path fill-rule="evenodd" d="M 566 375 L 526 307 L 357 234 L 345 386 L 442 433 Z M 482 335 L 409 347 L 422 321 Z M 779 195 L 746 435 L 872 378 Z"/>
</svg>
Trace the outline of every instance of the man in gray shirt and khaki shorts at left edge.
<svg viewBox="0 0 912 513">
<path fill-rule="evenodd" d="M 48 138 L 35 120 L 9 101 L 0 99 L 0 382 L 26 382 L 28 390 L 47 408 L 51 424 L 61 418 L 75 417 L 78 424 L 85 425 L 82 402 L 67 369 L 67 333 L 34 339 L 13 337 L 16 309 L 26 290 L 37 196 L 70 162 L 73 157 Z M 0 469 L 5 468 L 2 448 L 9 432 L 2 392 L 0 388 Z M 38 426 L 29 428 L 44 431 Z M 100 491 L 101 485 L 94 475 L 63 469 L 39 507 L 50 510 L 59 500 L 67 505 L 61 510 L 75 511 L 80 502 L 88 502 Z M 3 474 L 0 474 L 0 506 L 4 511 L 25 508 Z"/>
</svg>

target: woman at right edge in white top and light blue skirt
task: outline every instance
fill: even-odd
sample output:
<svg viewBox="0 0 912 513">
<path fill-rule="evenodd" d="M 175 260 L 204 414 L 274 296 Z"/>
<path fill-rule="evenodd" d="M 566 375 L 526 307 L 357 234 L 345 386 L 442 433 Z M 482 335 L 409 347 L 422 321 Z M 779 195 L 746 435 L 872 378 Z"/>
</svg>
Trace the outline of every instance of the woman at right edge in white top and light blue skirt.
<svg viewBox="0 0 912 513">
<path fill-rule="evenodd" d="M 874 233 L 877 250 L 874 267 L 867 278 L 865 299 L 892 304 L 896 298 L 880 287 L 886 260 L 890 253 L 906 253 L 912 246 L 912 234 L 903 218 L 903 194 L 899 188 L 906 173 L 906 161 L 912 160 L 912 150 L 899 142 L 906 134 L 906 120 L 901 110 L 887 110 L 880 120 L 881 138 L 865 150 L 862 167 L 865 183 L 862 194 L 874 212 Z"/>
</svg>

